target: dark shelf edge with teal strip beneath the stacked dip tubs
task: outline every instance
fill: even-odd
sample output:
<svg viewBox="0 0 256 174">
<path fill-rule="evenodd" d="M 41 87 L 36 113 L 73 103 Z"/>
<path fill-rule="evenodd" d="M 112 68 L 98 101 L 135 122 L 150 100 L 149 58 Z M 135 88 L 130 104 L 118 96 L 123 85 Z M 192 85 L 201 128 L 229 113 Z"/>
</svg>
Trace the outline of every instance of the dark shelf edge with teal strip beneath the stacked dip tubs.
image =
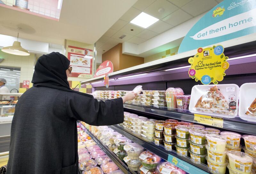
<svg viewBox="0 0 256 174">
<path fill-rule="evenodd" d="M 124 135 L 133 142 L 140 144 L 145 149 L 155 153 L 166 161 L 176 165 L 180 169 L 188 173 L 196 174 L 206 174 L 208 173 L 208 167 L 205 164 L 196 164 L 191 161 L 189 157 L 180 156 L 176 151 L 167 151 L 162 145 L 156 145 L 153 141 L 148 140 L 147 138 L 142 137 L 140 134 L 131 132 L 129 129 L 121 127 L 119 125 L 108 126 L 115 130 L 116 132 Z M 175 159 L 175 160 L 173 160 Z M 178 161 L 178 163 L 175 163 Z"/>
</svg>

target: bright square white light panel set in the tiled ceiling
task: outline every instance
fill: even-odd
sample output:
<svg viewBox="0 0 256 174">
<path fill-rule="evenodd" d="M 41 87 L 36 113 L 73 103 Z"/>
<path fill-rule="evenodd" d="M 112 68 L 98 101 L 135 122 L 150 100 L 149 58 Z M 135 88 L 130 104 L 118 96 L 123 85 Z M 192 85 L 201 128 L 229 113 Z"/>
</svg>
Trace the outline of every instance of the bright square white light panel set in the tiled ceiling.
<svg viewBox="0 0 256 174">
<path fill-rule="evenodd" d="M 159 21 L 159 19 L 150 16 L 147 13 L 141 12 L 137 17 L 132 19 L 130 23 L 138 25 L 143 28 L 148 28 L 150 25 L 156 23 L 157 21 Z"/>
</svg>

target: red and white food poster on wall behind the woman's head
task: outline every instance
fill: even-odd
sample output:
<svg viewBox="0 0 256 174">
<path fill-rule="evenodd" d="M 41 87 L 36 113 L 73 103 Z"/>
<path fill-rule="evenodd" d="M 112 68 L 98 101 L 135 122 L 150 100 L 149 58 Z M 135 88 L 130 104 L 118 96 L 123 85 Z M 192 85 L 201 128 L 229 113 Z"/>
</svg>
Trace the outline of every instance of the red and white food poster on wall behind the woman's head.
<svg viewBox="0 0 256 174">
<path fill-rule="evenodd" d="M 92 78 L 92 58 L 91 49 L 68 46 L 68 60 L 72 67 L 69 77 Z"/>
</svg>

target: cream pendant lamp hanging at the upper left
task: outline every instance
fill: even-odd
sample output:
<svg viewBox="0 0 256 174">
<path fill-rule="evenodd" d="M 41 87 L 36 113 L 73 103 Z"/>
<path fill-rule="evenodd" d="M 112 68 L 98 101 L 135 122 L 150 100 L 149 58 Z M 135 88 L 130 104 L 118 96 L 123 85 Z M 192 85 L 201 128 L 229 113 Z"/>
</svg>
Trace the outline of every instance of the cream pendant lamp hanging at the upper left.
<svg viewBox="0 0 256 174">
<path fill-rule="evenodd" d="M 19 30 L 20 30 L 20 28 L 19 28 Z M 18 33 L 17 41 L 14 41 L 12 46 L 3 47 L 2 51 L 4 53 L 9 53 L 9 54 L 14 54 L 14 55 L 22 55 L 22 56 L 30 55 L 28 50 L 21 47 L 18 39 L 19 39 L 19 33 Z"/>
</svg>

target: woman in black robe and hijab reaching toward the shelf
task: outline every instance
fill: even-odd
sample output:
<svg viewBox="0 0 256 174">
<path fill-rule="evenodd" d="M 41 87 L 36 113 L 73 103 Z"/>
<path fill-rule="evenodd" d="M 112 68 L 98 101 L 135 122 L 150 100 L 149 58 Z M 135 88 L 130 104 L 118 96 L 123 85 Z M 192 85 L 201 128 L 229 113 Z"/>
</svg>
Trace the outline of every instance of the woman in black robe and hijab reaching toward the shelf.
<svg viewBox="0 0 256 174">
<path fill-rule="evenodd" d="M 77 174 L 77 125 L 124 121 L 123 103 L 137 95 L 98 101 L 71 90 L 70 61 L 60 53 L 41 56 L 32 83 L 19 99 L 12 120 L 7 174 Z"/>
</svg>

